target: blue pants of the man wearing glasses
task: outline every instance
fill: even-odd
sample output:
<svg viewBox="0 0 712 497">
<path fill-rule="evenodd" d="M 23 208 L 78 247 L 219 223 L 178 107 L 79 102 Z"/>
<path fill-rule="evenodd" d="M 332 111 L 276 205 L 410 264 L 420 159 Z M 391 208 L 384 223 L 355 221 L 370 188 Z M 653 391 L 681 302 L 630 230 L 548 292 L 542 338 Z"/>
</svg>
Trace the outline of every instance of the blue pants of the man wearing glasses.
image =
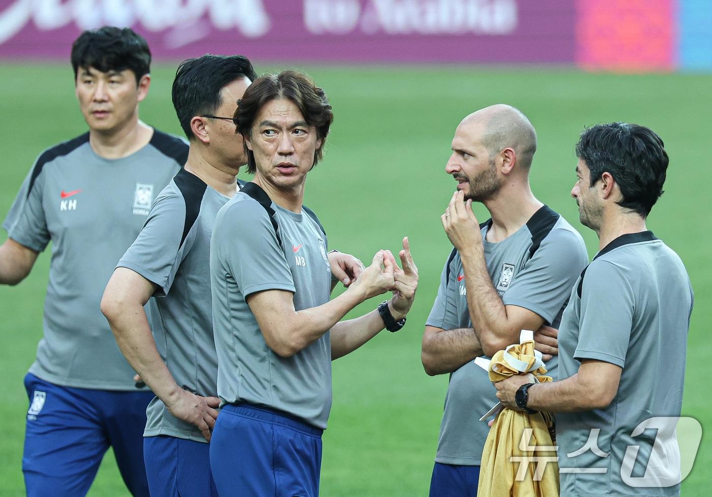
<svg viewBox="0 0 712 497">
<path fill-rule="evenodd" d="M 167 435 L 145 437 L 143 456 L 151 497 L 217 497 L 210 445 Z"/>
</svg>

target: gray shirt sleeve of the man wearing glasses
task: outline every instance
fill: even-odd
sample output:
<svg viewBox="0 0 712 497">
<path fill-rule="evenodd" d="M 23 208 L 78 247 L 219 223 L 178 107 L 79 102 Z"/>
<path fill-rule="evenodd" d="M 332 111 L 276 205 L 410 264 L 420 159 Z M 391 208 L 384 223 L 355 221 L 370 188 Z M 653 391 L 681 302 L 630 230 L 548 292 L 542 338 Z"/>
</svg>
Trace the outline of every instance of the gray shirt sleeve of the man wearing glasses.
<svg viewBox="0 0 712 497">
<path fill-rule="evenodd" d="M 186 226 L 185 201 L 177 193 L 159 196 L 135 242 L 121 257 L 117 267 L 137 272 L 158 289 L 157 296 L 170 292 L 181 262 L 195 241 L 195 230 Z"/>
</svg>

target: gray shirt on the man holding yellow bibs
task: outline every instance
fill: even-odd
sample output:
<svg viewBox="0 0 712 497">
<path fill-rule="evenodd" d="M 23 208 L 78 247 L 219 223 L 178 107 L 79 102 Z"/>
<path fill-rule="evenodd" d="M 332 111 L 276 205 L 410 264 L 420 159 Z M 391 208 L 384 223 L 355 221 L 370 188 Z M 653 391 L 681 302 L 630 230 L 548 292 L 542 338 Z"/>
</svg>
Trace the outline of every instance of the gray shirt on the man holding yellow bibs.
<svg viewBox="0 0 712 497">
<path fill-rule="evenodd" d="M 646 466 L 669 469 L 679 456 L 674 434 L 631 434 L 651 417 L 680 415 L 692 304 L 680 258 L 649 231 L 613 240 L 582 272 L 561 321 L 560 379 L 575 375 L 584 359 L 618 365 L 622 373 L 608 407 L 556 416 L 562 497 L 680 495 L 679 484 L 629 486 L 622 462 L 627 447 L 639 446 L 633 471 L 623 471 L 639 478 Z M 600 429 L 595 442 L 609 456 L 592 450 L 567 456 L 585 447 L 592 429 Z M 651 456 L 654 443 L 664 457 Z"/>
</svg>

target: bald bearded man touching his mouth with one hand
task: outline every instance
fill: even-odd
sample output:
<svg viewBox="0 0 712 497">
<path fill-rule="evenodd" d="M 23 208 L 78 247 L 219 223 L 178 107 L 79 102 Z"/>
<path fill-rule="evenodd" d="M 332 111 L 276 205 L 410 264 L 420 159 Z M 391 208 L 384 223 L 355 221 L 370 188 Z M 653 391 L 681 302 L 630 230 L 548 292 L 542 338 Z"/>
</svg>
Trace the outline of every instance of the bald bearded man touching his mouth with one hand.
<svg viewBox="0 0 712 497">
<path fill-rule="evenodd" d="M 556 375 L 553 328 L 588 257 L 577 231 L 531 191 L 536 144 L 529 119 L 508 105 L 468 115 L 452 141 L 445 171 L 457 190 L 441 220 L 454 248 L 422 343 L 426 373 L 450 373 L 431 497 L 477 493 L 489 430 L 479 418 L 497 398 L 473 359 L 518 343 L 520 330 L 539 330 L 537 348 Z M 491 219 L 479 224 L 473 201 Z"/>
</svg>

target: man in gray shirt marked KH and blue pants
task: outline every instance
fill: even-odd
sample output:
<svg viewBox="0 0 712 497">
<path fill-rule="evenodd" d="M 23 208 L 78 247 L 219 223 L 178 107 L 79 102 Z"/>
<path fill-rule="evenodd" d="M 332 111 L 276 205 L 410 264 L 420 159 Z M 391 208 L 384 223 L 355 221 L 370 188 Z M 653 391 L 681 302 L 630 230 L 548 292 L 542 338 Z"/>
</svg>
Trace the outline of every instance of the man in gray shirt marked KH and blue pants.
<svg viewBox="0 0 712 497">
<path fill-rule="evenodd" d="M 89 132 L 38 157 L 0 246 L 0 283 L 17 284 L 53 245 L 44 336 L 25 378 L 22 467 L 28 496 L 80 497 L 111 446 L 129 491 L 147 497 L 142 427 L 153 395 L 136 390 L 99 302 L 188 147 L 139 120 L 151 81 L 141 36 L 128 28 L 85 31 L 71 61 Z"/>
</svg>

